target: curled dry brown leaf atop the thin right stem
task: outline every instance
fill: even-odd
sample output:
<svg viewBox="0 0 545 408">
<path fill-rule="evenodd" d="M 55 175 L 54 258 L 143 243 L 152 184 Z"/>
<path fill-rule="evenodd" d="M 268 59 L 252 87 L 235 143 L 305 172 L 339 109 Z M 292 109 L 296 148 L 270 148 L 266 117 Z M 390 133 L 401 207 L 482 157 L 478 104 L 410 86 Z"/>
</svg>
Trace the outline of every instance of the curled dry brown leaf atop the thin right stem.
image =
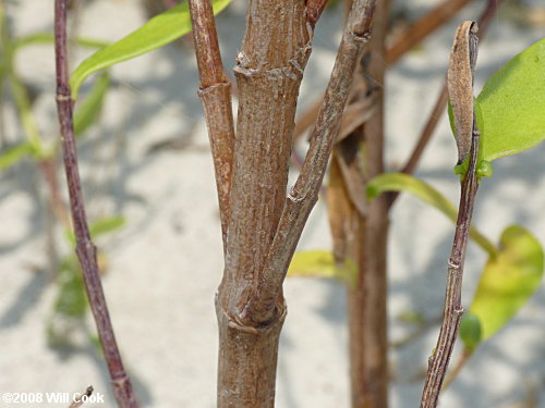
<svg viewBox="0 0 545 408">
<path fill-rule="evenodd" d="M 474 21 L 467 21 L 458 26 L 447 73 L 448 95 L 456 125 L 458 164 L 465 160 L 471 148 L 477 30 L 479 26 Z"/>
</svg>

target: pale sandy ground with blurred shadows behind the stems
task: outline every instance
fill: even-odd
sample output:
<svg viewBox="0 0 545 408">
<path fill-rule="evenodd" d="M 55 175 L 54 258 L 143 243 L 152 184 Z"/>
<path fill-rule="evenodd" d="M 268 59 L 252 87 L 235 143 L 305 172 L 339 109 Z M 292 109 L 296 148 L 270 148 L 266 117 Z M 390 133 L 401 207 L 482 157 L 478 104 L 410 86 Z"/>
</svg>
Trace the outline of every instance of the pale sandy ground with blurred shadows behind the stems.
<svg viewBox="0 0 545 408">
<path fill-rule="evenodd" d="M 393 1 L 392 33 L 438 3 Z M 387 66 L 388 170 L 405 162 L 432 111 L 456 27 L 463 20 L 476 20 L 485 3 L 471 1 Z M 2 30 L 12 40 L 52 33 L 52 0 L 0 4 L 5 17 Z M 70 30 L 74 38 L 109 42 L 166 7 L 168 1 L 73 1 Z M 233 0 L 217 17 L 228 72 L 241 46 L 245 7 L 245 1 Z M 317 25 L 299 111 L 325 89 L 342 21 L 342 7 L 332 4 Z M 509 59 L 542 38 L 544 28 L 542 2 L 502 1 L 480 44 L 476 91 Z M 5 152 L 28 134 L 39 134 L 44 151 L 56 149 L 53 48 L 46 37 L 21 48 L 13 61 L 27 103 L 17 102 L 4 81 L 0 84 L 0 391 L 74 393 L 93 385 L 106 394 L 106 406 L 112 406 L 94 322 L 81 296 L 73 238 L 63 227 L 65 213 L 59 202 L 66 202 L 66 193 L 60 161 L 55 154 L 49 161 L 32 154 L 5 159 Z M 93 45 L 74 44 L 72 51 L 75 66 L 93 52 Z M 1 52 L 5 58 L 5 47 Z M 109 72 L 101 107 L 77 143 L 88 218 L 100 249 L 119 346 L 144 407 L 214 407 L 218 347 L 214 294 L 222 273 L 222 250 L 191 38 Z M 100 77 L 94 79 L 83 87 L 83 95 L 96 91 L 94 84 Z M 305 144 L 298 148 L 304 154 Z M 473 219 L 493 242 L 506 226 L 519 223 L 545 243 L 544 156 L 542 145 L 494 162 L 494 177 L 483 182 Z M 416 175 L 453 202 L 459 194 L 455 162 L 445 113 Z M 51 184 L 51 174 L 58 174 L 59 186 Z M 395 408 L 415 407 L 438 335 L 453 225 L 408 195 L 395 205 L 390 222 L 390 400 Z M 300 249 L 328 250 L 330 245 L 320 200 Z M 464 304 L 471 301 L 485 261 L 486 255 L 470 244 Z M 289 313 L 279 351 L 277 407 L 349 407 L 343 285 L 292 277 L 286 283 L 286 298 Z M 545 408 L 544 327 L 542 285 L 521 312 L 479 348 L 441 396 L 441 407 Z"/>
</svg>

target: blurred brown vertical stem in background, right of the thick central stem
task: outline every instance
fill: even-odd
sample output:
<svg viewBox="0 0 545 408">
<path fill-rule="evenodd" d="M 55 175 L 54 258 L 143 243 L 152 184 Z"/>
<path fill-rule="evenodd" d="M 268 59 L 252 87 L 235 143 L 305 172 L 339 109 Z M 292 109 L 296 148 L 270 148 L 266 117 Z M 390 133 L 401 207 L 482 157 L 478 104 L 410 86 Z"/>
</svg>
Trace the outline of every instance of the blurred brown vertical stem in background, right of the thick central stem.
<svg viewBox="0 0 545 408">
<path fill-rule="evenodd" d="M 366 180 L 384 171 L 384 73 L 389 1 L 378 1 L 370 52 L 362 59 L 364 79 L 376 91 L 375 110 L 355 132 L 364 143 Z M 365 217 L 354 214 L 349 254 L 359 268 L 356 285 L 348 288 L 350 382 L 352 407 L 388 406 L 387 356 L 387 234 L 384 197 L 373 200 Z"/>
</svg>

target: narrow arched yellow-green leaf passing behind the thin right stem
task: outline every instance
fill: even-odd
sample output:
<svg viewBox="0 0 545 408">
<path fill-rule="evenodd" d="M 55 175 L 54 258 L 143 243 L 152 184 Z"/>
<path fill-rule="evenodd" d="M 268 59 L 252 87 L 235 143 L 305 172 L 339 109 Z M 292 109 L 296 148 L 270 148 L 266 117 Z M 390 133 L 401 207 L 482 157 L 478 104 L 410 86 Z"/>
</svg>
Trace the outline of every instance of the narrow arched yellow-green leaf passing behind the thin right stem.
<svg viewBox="0 0 545 408">
<path fill-rule="evenodd" d="M 458 218 L 458 210 L 444 195 L 429 184 L 404 173 L 383 173 L 367 183 L 367 198 L 371 200 L 386 191 L 411 193 L 422 201 L 435 207 L 452 222 Z M 496 247 L 475 227 L 470 228 L 470 237 L 489 255 L 496 254 Z"/>
</svg>

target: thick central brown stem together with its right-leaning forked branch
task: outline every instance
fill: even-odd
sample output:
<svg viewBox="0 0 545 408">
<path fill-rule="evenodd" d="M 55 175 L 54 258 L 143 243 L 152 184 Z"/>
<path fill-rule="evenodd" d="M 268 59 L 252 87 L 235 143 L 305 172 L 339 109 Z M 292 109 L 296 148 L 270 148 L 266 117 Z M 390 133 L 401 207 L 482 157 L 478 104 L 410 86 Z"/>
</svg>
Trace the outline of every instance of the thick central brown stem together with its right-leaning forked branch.
<svg viewBox="0 0 545 408">
<path fill-rule="evenodd" d="M 272 407 L 282 282 L 316 202 L 374 1 L 354 2 L 303 171 L 286 197 L 294 113 L 324 1 L 253 0 L 234 69 L 240 92 L 226 269 L 216 298 L 219 407 Z"/>
</svg>

